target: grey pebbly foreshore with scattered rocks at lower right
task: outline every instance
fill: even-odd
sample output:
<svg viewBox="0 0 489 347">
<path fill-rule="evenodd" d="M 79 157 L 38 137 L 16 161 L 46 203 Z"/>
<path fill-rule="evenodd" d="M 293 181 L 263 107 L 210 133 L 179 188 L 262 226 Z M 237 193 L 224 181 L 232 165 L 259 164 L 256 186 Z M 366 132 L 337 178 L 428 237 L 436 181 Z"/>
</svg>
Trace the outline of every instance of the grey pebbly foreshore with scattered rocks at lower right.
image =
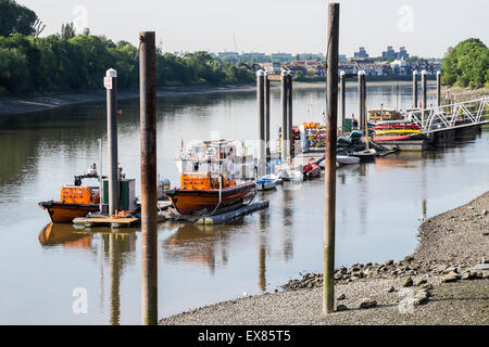
<svg viewBox="0 0 489 347">
<path fill-rule="evenodd" d="M 489 324 L 489 192 L 426 220 L 403 260 L 336 270 L 336 312 L 322 314 L 323 274 L 274 294 L 206 306 L 160 324 Z M 474 268 L 475 267 L 475 268 Z"/>
</svg>

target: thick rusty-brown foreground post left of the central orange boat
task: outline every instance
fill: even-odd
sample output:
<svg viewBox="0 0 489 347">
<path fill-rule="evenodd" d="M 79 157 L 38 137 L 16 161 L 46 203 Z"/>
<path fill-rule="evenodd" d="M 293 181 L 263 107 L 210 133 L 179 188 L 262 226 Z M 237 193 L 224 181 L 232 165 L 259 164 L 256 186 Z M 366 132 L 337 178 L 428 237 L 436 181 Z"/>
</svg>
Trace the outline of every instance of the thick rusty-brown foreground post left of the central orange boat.
<svg viewBox="0 0 489 347">
<path fill-rule="evenodd" d="M 154 31 L 139 33 L 141 123 L 141 323 L 158 324 L 156 55 Z"/>
</svg>

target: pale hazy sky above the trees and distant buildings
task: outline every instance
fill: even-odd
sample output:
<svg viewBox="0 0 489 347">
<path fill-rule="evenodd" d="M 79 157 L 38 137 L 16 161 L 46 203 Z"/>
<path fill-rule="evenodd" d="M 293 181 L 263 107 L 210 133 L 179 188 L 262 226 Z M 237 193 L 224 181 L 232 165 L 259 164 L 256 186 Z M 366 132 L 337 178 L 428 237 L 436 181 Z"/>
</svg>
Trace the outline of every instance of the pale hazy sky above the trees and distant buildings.
<svg viewBox="0 0 489 347">
<path fill-rule="evenodd" d="M 87 25 L 95 35 L 137 43 L 138 33 L 156 31 L 174 51 L 325 52 L 325 0 L 20 0 L 47 25 Z M 378 56 L 387 46 L 411 55 L 441 57 L 469 37 L 489 44 L 488 0 L 340 0 L 340 53 L 364 46 Z"/>
</svg>

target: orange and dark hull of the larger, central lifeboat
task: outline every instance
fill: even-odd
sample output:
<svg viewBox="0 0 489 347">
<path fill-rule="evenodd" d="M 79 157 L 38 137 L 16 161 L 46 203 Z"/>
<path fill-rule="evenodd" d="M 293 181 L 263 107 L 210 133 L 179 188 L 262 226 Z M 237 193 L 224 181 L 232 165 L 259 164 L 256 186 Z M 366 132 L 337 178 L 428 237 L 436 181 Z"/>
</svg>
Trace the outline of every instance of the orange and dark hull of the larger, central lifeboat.
<svg viewBox="0 0 489 347">
<path fill-rule="evenodd" d="M 229 206 L 244 200 L 254 191 L 254 182 L 248 182 L 222 190 L 222 201 L 220 204 L 218 190 L 173 190 L 166 191 L 173 206 L 180 215 L 190 215 L 192 211 L 208 209 L 213 210 L 220 207 Z"/>
</svg>

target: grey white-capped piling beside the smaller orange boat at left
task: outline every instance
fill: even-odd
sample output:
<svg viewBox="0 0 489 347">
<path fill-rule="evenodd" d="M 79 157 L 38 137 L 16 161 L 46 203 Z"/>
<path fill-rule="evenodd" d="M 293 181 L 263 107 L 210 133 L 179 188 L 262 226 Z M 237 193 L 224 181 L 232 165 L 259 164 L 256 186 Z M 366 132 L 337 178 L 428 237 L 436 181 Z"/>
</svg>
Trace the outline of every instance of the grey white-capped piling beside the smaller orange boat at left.
<svg viewBox="0 0 489 347">
<path fill-rule="evenodd" d="M 104 78 L 106 89 L 106 139 L 109 167 L 109 215 L 118 209 L 118 179 L 117 179 L 117 72 L 106 70 Z"/>
</svg>

